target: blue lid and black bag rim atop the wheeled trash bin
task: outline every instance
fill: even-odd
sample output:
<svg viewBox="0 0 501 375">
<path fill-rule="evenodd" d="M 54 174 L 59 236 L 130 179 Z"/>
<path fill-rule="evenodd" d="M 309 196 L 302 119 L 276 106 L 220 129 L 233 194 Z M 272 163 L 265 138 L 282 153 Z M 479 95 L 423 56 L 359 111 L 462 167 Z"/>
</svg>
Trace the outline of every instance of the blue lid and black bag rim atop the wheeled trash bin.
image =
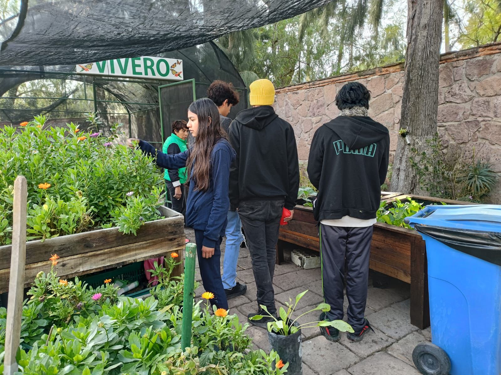
<svg viewBox="0 0 501 375">
<path fill-rule="evenodd" d="M 501 265 L 501 205 L 428 205 L 404 221 L 449 247 Z"/>
</svg>

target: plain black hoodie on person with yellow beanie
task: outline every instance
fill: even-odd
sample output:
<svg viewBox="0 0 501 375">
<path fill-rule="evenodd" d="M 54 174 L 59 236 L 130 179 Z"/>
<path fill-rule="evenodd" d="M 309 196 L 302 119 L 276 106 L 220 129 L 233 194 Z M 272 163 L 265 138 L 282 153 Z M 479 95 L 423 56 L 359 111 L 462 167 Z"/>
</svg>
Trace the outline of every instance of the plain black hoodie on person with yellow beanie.
<svg viewBox="0 0 501 375">
<path fill-rule="evenodd" d="M 229 127 L 236 160 L 229 174 L 229 200 L 285 199 L 293 209 L 299 189 L 299 161 L 291 124 L 270 105 L 240 111 Z"/>
</svg>

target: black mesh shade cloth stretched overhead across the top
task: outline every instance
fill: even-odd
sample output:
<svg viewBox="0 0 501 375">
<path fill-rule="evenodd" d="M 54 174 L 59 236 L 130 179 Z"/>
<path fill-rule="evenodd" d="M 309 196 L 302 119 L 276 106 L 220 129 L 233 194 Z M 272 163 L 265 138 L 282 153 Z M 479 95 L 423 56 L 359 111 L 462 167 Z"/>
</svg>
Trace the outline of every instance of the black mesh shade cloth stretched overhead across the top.
<svg viewBox="0 0 501 375">
<path fill-rule="evenodd" d="M 0 24 L 0 63 L 152 55 L 277 22 L 330 0 L 21 0 Z"/>
</svg>

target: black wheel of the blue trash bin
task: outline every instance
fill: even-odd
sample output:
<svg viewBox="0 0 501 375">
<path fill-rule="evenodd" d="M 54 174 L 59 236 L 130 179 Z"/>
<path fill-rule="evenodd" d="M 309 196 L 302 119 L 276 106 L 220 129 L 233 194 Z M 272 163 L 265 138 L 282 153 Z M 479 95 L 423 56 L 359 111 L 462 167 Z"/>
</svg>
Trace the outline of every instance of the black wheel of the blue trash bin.
<svg viewBox="0 0 501 375">
<path fill-rule="evenodd" d="M 412 351 L 412 360 L 417 369 L 424 375 L 449 374 L 449 356 L 441 347 L 430 342 L 417 345 Z"/>
</svg>

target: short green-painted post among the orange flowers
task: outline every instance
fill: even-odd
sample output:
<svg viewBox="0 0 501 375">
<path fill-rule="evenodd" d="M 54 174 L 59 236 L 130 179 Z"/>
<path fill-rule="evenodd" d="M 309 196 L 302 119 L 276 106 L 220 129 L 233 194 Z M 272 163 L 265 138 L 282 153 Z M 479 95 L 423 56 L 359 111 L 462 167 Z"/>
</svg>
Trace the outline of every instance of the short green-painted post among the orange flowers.
<svg viewBox="0 0 501 375">
<path fill-rule="evenodd" d="M 184 295 L 183 295 L 183 323 L 181 327 L 181 348 L 191 343 L 191 318 L 193 316 L 193 297 L 195 296 L 195 257 L 196 244 L 188 243 L 184 256 Z"/>
</svg>

